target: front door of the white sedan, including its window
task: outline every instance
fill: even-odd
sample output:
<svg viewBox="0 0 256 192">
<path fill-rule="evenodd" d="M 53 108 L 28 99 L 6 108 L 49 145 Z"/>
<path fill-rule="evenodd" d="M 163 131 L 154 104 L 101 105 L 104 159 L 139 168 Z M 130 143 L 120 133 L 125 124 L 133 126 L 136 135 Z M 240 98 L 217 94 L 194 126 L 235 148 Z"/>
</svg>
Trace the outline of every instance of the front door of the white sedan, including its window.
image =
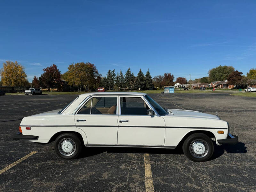
<svg viewBox="0 0 256 192">
<path fill-rule="evenodd" d="M 164 145 L 164 118 L 147 115 L 148 109 L 148 105 L 140 96 L 120 96 L 118 145 Z"/>
</svg>

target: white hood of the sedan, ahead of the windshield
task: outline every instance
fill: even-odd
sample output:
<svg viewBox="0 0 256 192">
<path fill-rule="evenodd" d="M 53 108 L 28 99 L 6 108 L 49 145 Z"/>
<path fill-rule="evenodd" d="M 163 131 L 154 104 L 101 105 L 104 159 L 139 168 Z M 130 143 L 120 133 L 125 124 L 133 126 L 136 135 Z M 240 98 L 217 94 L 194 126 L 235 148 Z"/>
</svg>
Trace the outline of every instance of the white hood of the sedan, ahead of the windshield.
<svg viewBox="0 0 256 192">
<path fill-rule="evenodd" d="M 216 115 L 202 113 L 199 111 L 190 111 L 190 110 L 181 110 L 181 109 L 168 109 L 168 110 L 171 111 L 172 113 L 169 113 L 169 115 L 167 115 L 167 116 L 220 119 Z"/>
</svg>

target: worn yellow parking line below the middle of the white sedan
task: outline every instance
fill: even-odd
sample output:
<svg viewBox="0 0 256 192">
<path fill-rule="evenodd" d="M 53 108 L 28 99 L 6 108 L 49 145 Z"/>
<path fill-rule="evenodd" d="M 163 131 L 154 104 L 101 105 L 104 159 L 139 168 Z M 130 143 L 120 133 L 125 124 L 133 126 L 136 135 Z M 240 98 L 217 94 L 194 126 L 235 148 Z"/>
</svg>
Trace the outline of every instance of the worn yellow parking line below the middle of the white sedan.
<svg viewBox="0 0 256 192">
<path fill-rule="evenodd" d="M 154 192 L 153 177 L 152 177 L 150 158 L 148 153 L 144 154 L 144 163 L 145 163 L 146 192 Z"/>
</svg>

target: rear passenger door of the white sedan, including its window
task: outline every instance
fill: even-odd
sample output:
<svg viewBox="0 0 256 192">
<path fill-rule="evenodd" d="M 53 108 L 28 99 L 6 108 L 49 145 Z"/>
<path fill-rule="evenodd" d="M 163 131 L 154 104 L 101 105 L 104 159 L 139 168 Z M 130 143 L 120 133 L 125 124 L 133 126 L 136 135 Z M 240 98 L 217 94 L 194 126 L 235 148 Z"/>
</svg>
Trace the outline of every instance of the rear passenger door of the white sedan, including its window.
<svg viewBox="0 0 256 192">
<path fill-rule="evenodd" d="M 117 96 L 95 96 L 75 115 L 76 127 L 82 129 L 88 144 L 117 144 Z"/>
</svg>

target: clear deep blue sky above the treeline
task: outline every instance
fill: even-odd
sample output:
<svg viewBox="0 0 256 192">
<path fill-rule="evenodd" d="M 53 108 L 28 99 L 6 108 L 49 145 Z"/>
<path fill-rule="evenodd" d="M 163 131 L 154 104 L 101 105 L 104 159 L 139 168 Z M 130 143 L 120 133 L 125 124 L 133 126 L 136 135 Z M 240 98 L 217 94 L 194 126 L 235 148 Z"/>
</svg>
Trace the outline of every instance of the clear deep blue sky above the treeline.
<svg viewBox="0 0 256 192">
<path fill-rule="evenodd" d="M 256 68 L 256 1 L 0 2 L 0 66 L 17 60 L 28 80 L 56 64 L 91 62 L 105 76 L 130 67 L 191 79 L 231 65 Z"/>
</svg>

